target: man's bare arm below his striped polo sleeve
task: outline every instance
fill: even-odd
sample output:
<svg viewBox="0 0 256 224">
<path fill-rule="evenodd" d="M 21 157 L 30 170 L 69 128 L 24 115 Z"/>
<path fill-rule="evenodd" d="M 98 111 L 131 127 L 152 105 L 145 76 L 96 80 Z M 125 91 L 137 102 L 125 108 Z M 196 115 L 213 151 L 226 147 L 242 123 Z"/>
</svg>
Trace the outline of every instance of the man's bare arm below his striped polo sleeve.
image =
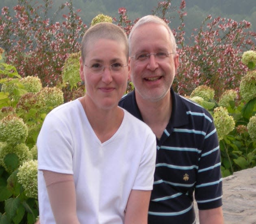
<svg viewBox="0 0 256 224">
<path fill-rule="evenodd" d="M 200 224 L 224 224 L 222 207 L 199 210 Z"/>
</svg>

